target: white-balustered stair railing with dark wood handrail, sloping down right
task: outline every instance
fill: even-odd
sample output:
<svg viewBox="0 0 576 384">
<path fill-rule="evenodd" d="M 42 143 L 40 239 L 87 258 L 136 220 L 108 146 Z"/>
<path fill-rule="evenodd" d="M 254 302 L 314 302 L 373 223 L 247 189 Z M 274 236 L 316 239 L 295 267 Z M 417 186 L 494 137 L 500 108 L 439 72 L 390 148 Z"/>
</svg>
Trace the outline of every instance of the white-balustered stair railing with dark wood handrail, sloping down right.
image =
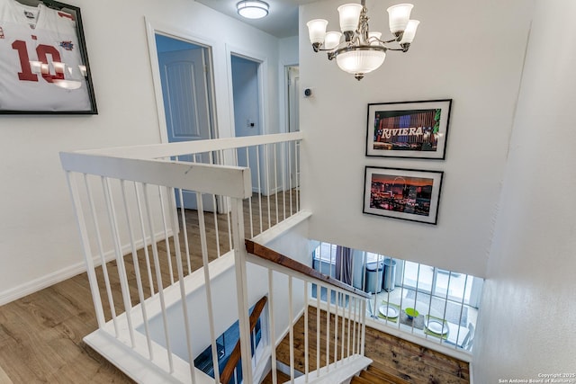
<svg viewBox="0 0 576 384">
<path fill-rule="evenodd" d="M 278 302 L 287 306 L 288 337 L 290 362 L 288 370 L 291 382 L 326 382 L 339 383 L 349 380 L 358 371 L 365 369 L 371 362 L 365 354 L 365 315 L 366 303 L 370 294 L 342 283 L 341 281 L 323 275 L 311 267 L 298 263 L 292 258 L 281 255 L 266 246 L 261 246 L 250 240 L 247 243 L 247 264 L 256 264 L 266 269 L 268 280 L 268 317 L 272 345 L 279 341 L 275 339 L 274 306 Z M 300 286 L 301 289 L 298 289 Z M 315 303 L 315 319 L 310 323 L 308 298 L 309 290 L 317 292 L 326 290 L 328 299 L 326 306 L 320 304 L 320 295 Z M 275 300 L 274 292 L 287 292 L 281 300 Z M 287 296 L 287 298 L 285 297 Z M 294 347 L 295 319 L 293 308 L 296 301 L 303 303 L 304 345 Z M 333 304 L 333 305 L 331 305 Z M 312 326 L 311 326 L 312 325 Z M 283 325 L 284 326 L 284 325 Z M 311 332 L 315 330 L 315 332 Z M 311 335 L 312 334 L 312 335 Z M 302 348 L 303 347 L 303 348 Z M 303 366 L 302 376 L 296 378 L 295 353 L 301 353 Z M 277 382 L 277 361 L 275 349 L 271 352 L 272 380 Z M 315 357 L 311 361 L 311 356 Z M 301 360 L 301 359 L 299 359 Z M 313 369 L 311 369 L 313 367 Z"/>
</svg>

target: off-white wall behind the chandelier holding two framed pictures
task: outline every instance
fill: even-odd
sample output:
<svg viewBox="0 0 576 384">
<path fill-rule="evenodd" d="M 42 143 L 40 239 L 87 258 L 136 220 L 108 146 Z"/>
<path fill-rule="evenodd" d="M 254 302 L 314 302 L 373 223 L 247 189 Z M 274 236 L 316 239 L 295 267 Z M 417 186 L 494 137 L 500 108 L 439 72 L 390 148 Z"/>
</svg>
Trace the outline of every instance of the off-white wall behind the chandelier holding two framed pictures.
<svg viewBox="0 0 576 384">
<path fill-rule="evenodd" d="M 315 54 L 305 22 L 337 7 L 303 5 L 300 26 L 302 206 L 311 238 L 484 276 L 518 96 L 530 7 L 523 0 L 417 0 L 410 52 L 389 52 L 361 82 Z M 370 26 L 388 30 L 387 4 L 367 2 Z M 388 32 L 389 33 L 389 32 Z M 451 98 L 446 160 L 365 157 L 368 103 Z M 362 213 L 365 165 L 445 171 L 437 226 Z"/>
</svg>

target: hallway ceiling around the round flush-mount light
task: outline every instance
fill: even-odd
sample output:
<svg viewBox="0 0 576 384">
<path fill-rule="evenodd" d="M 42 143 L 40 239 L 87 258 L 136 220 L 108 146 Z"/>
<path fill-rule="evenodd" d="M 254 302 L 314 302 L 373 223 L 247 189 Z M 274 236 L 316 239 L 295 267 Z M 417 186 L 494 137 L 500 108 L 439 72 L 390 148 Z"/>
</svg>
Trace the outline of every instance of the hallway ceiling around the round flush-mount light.
<svg viewBox="0 0 576 384">
<path fill-rule="evenodd" d="M 239 0 L 196 1 L 282 39 L 298 35 L 298 5 L 314 0 L 264 0 L 270 4 L 270 11 L 265 18 L 258 20 L 245 19 L 238 14 L 236 3 Z"/>
</svg>

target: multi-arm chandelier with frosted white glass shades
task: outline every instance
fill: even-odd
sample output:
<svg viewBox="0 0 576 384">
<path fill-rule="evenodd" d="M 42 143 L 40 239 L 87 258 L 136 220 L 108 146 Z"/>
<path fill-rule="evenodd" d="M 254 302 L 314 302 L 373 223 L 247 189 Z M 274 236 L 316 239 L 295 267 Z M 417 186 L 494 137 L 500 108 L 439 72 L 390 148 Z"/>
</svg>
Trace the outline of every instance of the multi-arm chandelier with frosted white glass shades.
<svg viewBox="0 0 576 384">
<path fill-rule="evenodd" d="M 340 31 L 326 31 L 328 22 L 315 19 L 307 22 L 314 52 L 328 52 L 328 59 L 336 58 L 338 67 L 362 80 L 365 74 L 382 66 L 387 50 L 407 52 L 414 40 L 419 21 L 410 20 L 412 4 L 397 4 L 388 8 L 391 40 L 380 40 L 382 32 L 368 29 L 365 0 L 362 4 L 338 7 Z M 344 39 L 342 40 L 342 36 Z M 391 46 L 391 44 L 395 46 Z"/>
</svg>

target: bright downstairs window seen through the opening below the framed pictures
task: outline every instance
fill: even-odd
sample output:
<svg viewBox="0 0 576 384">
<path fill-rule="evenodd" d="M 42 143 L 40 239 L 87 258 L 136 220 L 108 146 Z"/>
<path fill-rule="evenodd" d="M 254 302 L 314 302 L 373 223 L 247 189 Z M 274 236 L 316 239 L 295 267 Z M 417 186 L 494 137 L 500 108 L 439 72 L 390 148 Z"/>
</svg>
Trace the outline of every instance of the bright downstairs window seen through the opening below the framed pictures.
<svg viewBox="0 0 576 384">
<path fill-rule="evenodd" d="M 313 252 L 316 270 L 335 276 L 336 247 L 319 243 Z M 352 285 L 374 294 L 367 309 L 374 321 L 451 348 L 472 349 L 483 279 L 359 250 L 352 251 L 351 263 Z M 408 317 L 407 308 L 416 308 L 418 315 Z"/>
</svg>

